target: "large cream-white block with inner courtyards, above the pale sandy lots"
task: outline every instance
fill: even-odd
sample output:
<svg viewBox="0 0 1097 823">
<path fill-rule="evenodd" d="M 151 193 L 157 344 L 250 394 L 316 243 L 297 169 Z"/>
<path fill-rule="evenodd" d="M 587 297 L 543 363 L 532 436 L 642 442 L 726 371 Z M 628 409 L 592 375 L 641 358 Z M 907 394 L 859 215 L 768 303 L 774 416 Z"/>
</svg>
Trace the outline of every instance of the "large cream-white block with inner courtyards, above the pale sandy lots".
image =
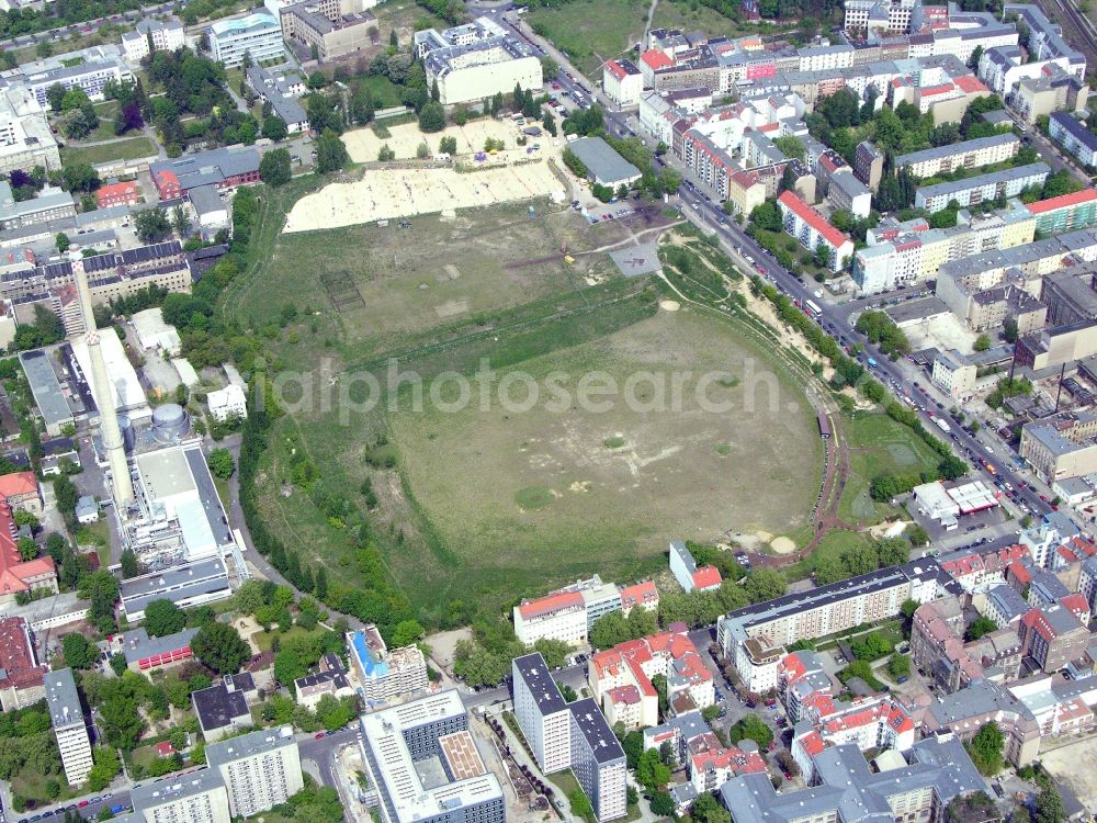
<svg viewBox="0 0 1097 823">
<path fill-rule="evenodd" d="M 427 84 L 438 83 L 442 105 L 479 103 L 514 86 L 540 90 L 541 60 L 533 48 L 490 18 L 442 32 L 415 33 L 416 54 L 427 70 Z"/>
</svg>

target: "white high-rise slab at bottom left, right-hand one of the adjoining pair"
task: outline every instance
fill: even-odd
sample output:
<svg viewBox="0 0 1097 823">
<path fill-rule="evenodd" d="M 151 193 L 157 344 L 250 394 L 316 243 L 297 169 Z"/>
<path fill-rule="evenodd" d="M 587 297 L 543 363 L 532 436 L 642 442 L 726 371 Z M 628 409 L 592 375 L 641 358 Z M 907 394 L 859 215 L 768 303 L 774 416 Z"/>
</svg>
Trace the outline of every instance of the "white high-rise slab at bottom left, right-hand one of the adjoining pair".
<svg viewBox="0 0 1097 823">
<path fill-rule="evenodd" d="M 270 811 L 305 786 L 291 726 L 212 743 L 206 746 L 206 763 L 225 783 L 233 818 Z"/>
</svg>

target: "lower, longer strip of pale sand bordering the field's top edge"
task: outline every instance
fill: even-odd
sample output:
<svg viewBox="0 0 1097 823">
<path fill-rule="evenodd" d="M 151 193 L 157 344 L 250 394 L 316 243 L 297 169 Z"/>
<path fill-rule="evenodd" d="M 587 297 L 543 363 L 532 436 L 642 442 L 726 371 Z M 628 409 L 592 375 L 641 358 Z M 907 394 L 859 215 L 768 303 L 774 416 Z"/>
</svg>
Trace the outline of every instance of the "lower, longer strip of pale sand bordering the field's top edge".
<svg viewBox="0 0 1097 823">
<path fill-rule="evenodd" d="M 298 200 L 283 230 L 339 228 L 551 194 L 562 199 L 563 192 L 543 159 L 465 173 L 452 168 L 369 170 L 362 180 L 332 183 Z"/>
</svg>

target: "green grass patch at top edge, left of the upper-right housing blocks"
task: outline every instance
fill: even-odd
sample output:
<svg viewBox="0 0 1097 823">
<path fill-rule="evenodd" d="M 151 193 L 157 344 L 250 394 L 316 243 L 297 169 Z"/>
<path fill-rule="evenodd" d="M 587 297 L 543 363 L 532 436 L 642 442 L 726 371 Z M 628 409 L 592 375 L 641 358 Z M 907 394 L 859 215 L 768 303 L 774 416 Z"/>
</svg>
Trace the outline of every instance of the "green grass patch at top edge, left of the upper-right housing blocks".
<svg viewBox="0 0 1097 823">
<path fill-rule="evenodd" d="M 644 34 L 644 0 L 575 0 L 558 9 L 531 8 L 527 20 L 587 75 L 632 48 Z M 597 78 L 596 78 L 597 79 Z"/>
</svg>

